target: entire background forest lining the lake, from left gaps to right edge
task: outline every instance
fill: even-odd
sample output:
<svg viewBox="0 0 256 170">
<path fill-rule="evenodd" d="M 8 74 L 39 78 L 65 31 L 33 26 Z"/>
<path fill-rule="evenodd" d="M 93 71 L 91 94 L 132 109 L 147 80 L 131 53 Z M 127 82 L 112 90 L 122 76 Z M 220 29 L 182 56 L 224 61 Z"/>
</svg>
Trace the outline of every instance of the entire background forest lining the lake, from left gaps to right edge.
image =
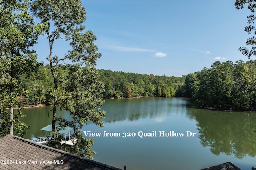
<svg viewBox="0 0 256 170">
<path fill-rule="evenodd" d="M 58 76 L 69 74 L 70 65 L 62 65 Z M 98 70 L 100 81 L 104 82 L 104 98 L 132 98 L 139 96 L 188 97 L 195 98 L 198 106 L 227 110 L 256 109 L 255 61 L 216 61 L 211 68 L 181 77 L 135 74 L 111 70 Z M 51 104 L 50 66 L 40 65 L 30 77 L 21 76 L 24 104 Z"/>
</svg>

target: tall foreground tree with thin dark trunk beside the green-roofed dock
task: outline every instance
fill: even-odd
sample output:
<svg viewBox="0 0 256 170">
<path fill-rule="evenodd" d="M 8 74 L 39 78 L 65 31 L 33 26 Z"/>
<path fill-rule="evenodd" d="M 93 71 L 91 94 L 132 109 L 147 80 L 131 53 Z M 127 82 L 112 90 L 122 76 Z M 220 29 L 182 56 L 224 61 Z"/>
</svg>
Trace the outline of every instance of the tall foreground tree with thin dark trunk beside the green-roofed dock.
<svg viewBox="0 0 256 170">
<path fill-rule="evenodd" d="M 60 124 L 74 128 L 74 137 L 78 142 L 72 146 L 71 151 L 80 156 L 92 158 L 95 153 L 90 149 L 93 144 L 92 140 L 84 138 L 78 128 L 86 125 L 89 120 L 96 125 L 103 126 L 100 119 L 104 118 L 105 112 L 100 111 L 97 107 L 102 105 L 99 93 L 102 92 L 100 89 L 103 87 L 102 83 L 97 81 L 98 73 L 95 65 L 101 54 L 96 53 L 98 51 L 94 45 L 96 36 L 90 30 L 85 32 L 85 26 L 82 25 L 86 20 L 86 9 L 82 7 L 80 0 L 34 0 L 32 12 L 41 20 L 41 23 L 47 25 L 47 29 L 45 29 L 49 42 L 47 59 L 50 62 L 50 70 L 54 79 L 51 146 L 59 147 L 58 144 L 55 145 L 54 135 L 58 133 L 55 129 L 56 121 L 60 121 Z M 64 36 L 65 40 L 70 43 L 71 50 L 60 58 L 58 56 L 53 57 L 52 47 L 55 42 L 58 43 L 61 36 Z M 76 64 L 68 68 L 68 79 L 64 76 L 58 78 L 56 74 L 58 66 L 61 61 L 66 60 Z M 88 82 L 86 82 L 87 79 Z M 91 89 L 88 87 L 90 83 L 92 83 Z M 78 90 L 80 88 L 84 91 Z M 56 117 L 58 104 L 61 105 L 61 109 L 70 111 L 74 121 L 68 122 Z M 76 127 L 77 125 L 78 127 Z"/>
</svg>

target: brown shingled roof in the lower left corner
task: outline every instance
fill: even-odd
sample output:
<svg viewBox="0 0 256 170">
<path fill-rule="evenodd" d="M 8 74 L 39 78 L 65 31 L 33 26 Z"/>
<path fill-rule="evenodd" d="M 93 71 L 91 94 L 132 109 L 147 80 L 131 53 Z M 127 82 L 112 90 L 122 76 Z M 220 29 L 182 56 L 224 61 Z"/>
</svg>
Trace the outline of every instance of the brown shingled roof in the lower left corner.
<svg viewBox="0 0 256 170">
<path fill-rule="evenodd" d="M 121 170 L 12 135 L 0 139 L 0 169 Z"/>
</svg>

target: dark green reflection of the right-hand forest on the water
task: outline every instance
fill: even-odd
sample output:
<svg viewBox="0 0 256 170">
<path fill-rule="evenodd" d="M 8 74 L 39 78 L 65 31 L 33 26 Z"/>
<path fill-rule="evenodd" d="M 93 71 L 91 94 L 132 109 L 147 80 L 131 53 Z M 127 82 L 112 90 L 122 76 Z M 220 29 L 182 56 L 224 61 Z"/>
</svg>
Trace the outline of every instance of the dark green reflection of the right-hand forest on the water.
<svg viewBox="0 0 256 170">
<path fill-rule="evenodd" d="M 192 110 L 201 144 L 215 155 L 256 156 L 256 113 Z"/>
</svg>

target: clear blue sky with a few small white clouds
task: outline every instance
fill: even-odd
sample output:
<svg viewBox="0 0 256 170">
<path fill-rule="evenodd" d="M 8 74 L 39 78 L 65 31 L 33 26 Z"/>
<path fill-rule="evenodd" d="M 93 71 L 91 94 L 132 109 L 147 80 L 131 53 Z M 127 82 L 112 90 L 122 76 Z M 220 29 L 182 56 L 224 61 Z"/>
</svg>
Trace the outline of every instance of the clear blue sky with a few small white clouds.
<svg viewBox="0 0 256 170">
<path fill-rule="evenodd" d="M 246 56 L 238 51 L 250 37 L 244 27 L 249 10 L 235 0 L 82 0 L 86 29 L 98 38 L 98 69 L 181 76 L 210 68 L 214 61 Z M 48 56 L 46 37 L 34 49 L 38 61 Z M 68 43 L 56 41 L 62 57 Z M 67 61 L 66 64 L 69 62 Z"/>
</svg>

